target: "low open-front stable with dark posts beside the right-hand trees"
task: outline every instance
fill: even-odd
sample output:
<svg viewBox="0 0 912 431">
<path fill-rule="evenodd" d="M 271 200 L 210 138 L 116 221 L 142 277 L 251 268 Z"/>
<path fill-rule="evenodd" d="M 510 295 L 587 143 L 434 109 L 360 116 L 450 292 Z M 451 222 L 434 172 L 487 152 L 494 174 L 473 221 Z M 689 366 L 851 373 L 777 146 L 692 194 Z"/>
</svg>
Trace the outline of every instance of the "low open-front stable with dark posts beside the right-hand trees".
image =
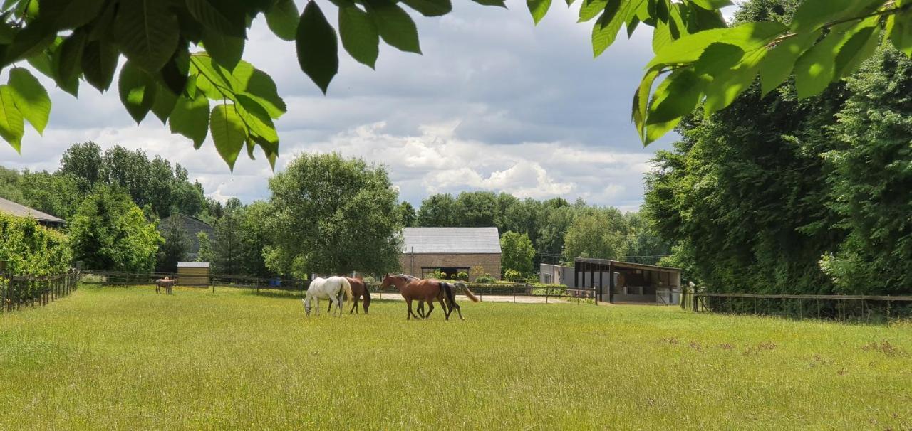
<svg viewBox="0 0 912 431">
<path fill-rule="evenodd" d="M 596 289 L 608 303 L 675 304 L 680 300 L 681 271 L 667 266 L 575 258 L 574 284 Z"/>
</svg>

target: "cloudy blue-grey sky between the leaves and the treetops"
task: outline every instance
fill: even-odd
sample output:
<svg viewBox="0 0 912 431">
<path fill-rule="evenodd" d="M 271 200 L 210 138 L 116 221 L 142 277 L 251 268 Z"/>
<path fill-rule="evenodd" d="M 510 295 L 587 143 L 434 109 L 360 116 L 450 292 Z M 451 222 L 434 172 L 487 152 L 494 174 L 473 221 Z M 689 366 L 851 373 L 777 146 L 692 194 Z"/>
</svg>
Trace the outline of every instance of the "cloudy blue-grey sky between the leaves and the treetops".
<svg viewBox="0 0 912 431">
<path fill-rule="evenodd" d="M 295 154 L 338 151 L 385 165 L 400 199 L 416 205 L 432 193 L 494 190 L 637 210 L 648 159 L 670 141 L 644 149 L 629 120 L 651 57 L 648 27 L 594 59 L 591 23 L 575 24 L 578 5 L 555 1 L 533 26 L 524 2 L 508 4 L 457 0 L 451 15 L 413 14 L 423 56 L 381 43 L 373 71 L 343 53 L 326 97 L 298 68 L 294 44 L 254 22 L 244 59 L 275 78 L 288 105 L 276 122 L 277 169 Z M 335 21 L 335 8 L 320 5 Z M 218 200 L 268 196 L 263 157 L 244 153 L 231 173 L 211 140 L 194 150 L 151 114 L 136 126 L 112 88 L 101 95 L 83 83 L 79 99 L 52 89 L 44 136 L 26 126 L 22 155 L 0 145 L 0 165 L 54 170 L 71 143 L 93 140 L 181 163 Z"/>
</svg>

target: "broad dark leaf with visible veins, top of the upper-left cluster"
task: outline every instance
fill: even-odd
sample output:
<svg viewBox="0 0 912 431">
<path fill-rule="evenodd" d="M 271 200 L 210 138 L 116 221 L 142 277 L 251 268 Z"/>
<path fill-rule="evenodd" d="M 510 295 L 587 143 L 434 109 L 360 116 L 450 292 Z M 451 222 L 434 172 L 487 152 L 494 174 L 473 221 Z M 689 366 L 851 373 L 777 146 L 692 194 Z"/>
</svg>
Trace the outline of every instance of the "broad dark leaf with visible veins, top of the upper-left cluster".
<svg viewBox="0 0 912 431">
<path fill-rule="evenodd" d="M 177 49 L 177 17 L 168 2 L 121 0 L 114 34 L 124 56 L 137 67 L 157 73 Z"/>
</svg>

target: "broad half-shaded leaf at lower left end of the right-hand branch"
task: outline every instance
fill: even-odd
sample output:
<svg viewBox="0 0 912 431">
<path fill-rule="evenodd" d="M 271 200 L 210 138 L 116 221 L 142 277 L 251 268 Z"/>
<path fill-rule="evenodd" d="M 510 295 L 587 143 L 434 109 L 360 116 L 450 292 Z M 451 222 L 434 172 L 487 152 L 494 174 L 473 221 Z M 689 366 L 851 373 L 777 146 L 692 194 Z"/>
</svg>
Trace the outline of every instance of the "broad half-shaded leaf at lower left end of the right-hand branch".
<svg viewBox="0 0 912 431">
<path fill-rule="evenodd" d="M 700 77 L 692 68 L 672 72 L 656 88 L 649 104 L 646 124 L 663 124 L 688 115 L 697 108 L 706 77 Z"/>
</svg>

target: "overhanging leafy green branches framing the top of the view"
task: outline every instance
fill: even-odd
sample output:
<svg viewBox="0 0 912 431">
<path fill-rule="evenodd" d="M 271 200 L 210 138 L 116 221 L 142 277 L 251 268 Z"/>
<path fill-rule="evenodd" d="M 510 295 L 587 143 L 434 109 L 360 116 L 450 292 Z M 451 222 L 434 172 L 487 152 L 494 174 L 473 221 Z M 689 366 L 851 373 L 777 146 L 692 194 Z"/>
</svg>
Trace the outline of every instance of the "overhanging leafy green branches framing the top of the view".
<svg viewBox="0 0 912 431">
<path fill-rule="evenodd" d="M 505 6 L 504 0 L 473 1 Z M 337 18 L 323 12 L 320 5 L 327 3 L 337 7 Z M 553 2 L 526 4 L 537 24 Z M 653 27 L 655 56 L 632 108 L 645 143 L 700 104 L 706 115 L 728 107 L 758 76 L 764 94 L 790 72 L 799 97 L 819 94 L 857 70 L 881 34 L 912 55 L 912 3 L 907 1 L 803 0 L 789 11 L 794 15 L 789 24 L 741 19 L 735 26 L 720 13 L 729 0 L 577 4 L 579 21 L 593 23 L 595 56 L 621 32 L 631 36 L 638 26 Z M 106 91 L 118 75 L 120 100 L 137 123 L 151 112 L 196 148 L 212 136 L 229 167 L 243 149 L 254 157 L 257 147 L 275 166 L 274 121 L 285 113 L 285 102 L 272 78 L 242 59 L 247 29 L 257 16 L 265 16 L 275 36 L 295 41 L 298 65 L 326 93 L 338 72 L 340 45 L 372 68 L 381 40 L 420 54 L 412 15 L 451 10 L 450 0 L 308 0 L 300 14 L 292 0 L 10 0 L 2 8 L 0 44 L 4 66 L 26 60 L 73 96 L 82 81 Z M 126 62 L 116 73 L 120 56 Z M 18 150 L 25 122 L 41 133 L 50 108 L 37 79 L 26 68 L 10 68 L 0 86 L 0 137 Z"/>
</svg>

